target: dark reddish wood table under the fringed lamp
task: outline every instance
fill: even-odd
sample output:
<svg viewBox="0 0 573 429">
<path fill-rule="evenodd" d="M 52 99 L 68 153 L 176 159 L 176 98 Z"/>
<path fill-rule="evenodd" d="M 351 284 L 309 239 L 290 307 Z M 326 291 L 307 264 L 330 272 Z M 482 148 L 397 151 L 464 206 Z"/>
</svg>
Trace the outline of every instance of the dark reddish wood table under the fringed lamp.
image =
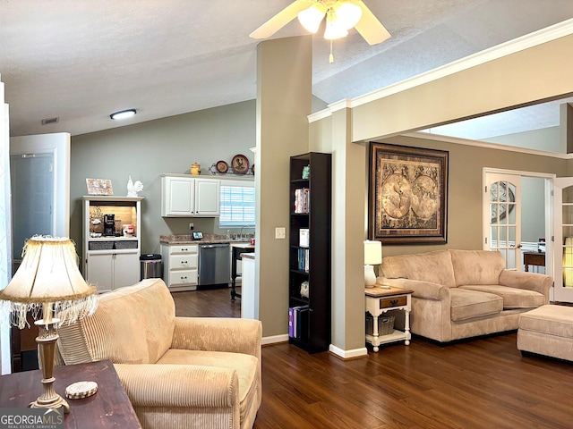
<svg viewBox="0 0 573 429">
<path fill-rule="evenodd" d="M 70 413 L 65 415 L 64 427 L 85 429 L 121 427 L 141 429 L 132 403 L 117 377 L 111 361 L 56 366 L 54 389 L 65 398 L 65 388 L 76 382 L 96 382 L 98 391 L 83 400 L 67 400 Z M 42 394 L 42 373 L 25 371 L 0 376 L 0 408 L 24 408 Z"/>
</svg>

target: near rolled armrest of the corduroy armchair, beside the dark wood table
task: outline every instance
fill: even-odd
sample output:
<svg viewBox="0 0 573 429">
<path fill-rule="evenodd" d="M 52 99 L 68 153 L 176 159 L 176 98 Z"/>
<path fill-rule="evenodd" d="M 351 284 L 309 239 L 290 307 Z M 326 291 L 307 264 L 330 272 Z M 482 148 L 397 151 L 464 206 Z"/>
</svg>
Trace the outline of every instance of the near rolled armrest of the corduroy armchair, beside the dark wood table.
<svg viewBox="0 0 573 429">
<path fill-rule="evenodd" d="M 239 381 L 232 368 L 195 365 L 115 364 L 134 407 L 238 408 Z"/>
</svg>

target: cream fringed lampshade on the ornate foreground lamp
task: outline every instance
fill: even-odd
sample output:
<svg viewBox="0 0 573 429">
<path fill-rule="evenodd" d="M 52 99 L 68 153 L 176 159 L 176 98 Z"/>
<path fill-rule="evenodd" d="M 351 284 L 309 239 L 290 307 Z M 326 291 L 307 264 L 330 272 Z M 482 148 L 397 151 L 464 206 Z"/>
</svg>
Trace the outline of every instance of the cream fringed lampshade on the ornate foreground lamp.
<svg viewBox="0 0 573 429">
<path fill-rule="evenodd" d="M 29 311 L 36 318 L 40 308 L 59 313 L 73 307 L 73 312 L 66 312 L 65 319 L 57 322 L 61 325 L 91 315 L 98 307 L 96 288 L 83 280 L 78 269 L 73 241 L 58 237 L 34 236 L 26 242 L 21 265 L 0 290 L 0 299 L 12 313 L 11 324 L 20 329 L 27 324 Z"/>
</svg>

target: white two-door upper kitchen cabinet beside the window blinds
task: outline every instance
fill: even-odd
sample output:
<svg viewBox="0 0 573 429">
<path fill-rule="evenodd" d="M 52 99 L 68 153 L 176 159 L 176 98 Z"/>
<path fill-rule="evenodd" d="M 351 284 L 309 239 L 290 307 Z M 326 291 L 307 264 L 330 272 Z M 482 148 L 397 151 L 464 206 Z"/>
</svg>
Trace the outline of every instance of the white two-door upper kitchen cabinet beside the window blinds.
<svg viewBox="0 0 573 429">
<path fill-rule="evenodd" d="M 163 217 L 217 217 L 220 214 L 218 179 L 186 174 L 161 176 L 161 215 Z"/>
</svg>

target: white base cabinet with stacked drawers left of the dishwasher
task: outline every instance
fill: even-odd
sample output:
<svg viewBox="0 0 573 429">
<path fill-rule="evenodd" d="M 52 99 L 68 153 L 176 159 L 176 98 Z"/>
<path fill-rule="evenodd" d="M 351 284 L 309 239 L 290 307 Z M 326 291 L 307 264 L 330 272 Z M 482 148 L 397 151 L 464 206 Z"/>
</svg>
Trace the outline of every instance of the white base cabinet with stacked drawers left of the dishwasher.
<svg viewBox="0 0 573 429">
<path fill-rule="evenodd" d="M 199 246 L 161 244 L 163 281 L 171 291 L 196 290 L 199 281 Z"/>
</svg>

